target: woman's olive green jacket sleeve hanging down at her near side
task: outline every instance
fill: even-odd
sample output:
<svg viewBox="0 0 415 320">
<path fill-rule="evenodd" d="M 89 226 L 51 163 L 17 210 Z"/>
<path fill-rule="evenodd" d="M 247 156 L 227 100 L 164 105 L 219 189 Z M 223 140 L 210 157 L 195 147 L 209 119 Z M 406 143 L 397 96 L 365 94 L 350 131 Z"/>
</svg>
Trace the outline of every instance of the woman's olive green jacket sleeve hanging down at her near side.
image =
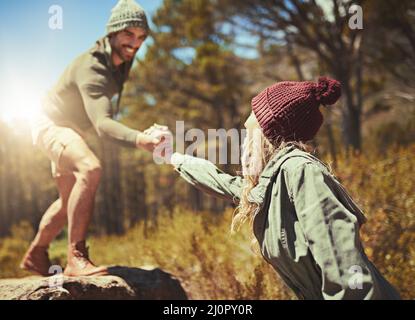
<svg viewBox="0 0 415 320">
<path fill-rule="evenodd" d="M 295 211 L 321 271 L 324 299 L 370 299 L 374 282 L 354 213 L 336 197 L 333 177 L 315 163 L 289 175 Z"/>
</svg>

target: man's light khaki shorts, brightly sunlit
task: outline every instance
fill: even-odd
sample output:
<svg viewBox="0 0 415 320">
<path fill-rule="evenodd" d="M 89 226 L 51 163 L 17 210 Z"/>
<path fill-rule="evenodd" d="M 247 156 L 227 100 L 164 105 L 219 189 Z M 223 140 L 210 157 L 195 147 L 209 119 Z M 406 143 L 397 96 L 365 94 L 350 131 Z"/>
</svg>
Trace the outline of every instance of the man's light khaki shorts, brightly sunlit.
<svg viewBox="0 0 415 320">
<path fill-rule="evenodd" d="M 53 121 L 43 116 L 32 128 L 34 132 L 34 145 L 41 149 L 51 160 L 52 176 L 54 178 L 71 175 L 71 170 L 59 165 L 60 158 L 65 148 L 74 142 L 84 141 L 82 136 L 75 130 L 56 125 Z"/>
</svg>

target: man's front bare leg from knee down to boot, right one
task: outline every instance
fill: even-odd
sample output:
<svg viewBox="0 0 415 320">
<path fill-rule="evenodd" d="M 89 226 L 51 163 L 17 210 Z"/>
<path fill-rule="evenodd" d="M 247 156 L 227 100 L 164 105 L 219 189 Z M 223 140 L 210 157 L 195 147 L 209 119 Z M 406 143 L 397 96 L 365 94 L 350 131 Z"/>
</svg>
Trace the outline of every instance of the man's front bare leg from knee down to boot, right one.
<svg viewBox="0 0 415 320">
<path fill-rule="evenodd" d="M 99 160 L 82 140 L 69 144 L 62 153 L 60 167 L 74 173 L 75 183 L 68 198 L 68 265 L 65 275 L 82 276 L 107 273 L 96 267 L 85 245 L 87 229 L 94 210 L 101 166 Z"/>
</svg>

